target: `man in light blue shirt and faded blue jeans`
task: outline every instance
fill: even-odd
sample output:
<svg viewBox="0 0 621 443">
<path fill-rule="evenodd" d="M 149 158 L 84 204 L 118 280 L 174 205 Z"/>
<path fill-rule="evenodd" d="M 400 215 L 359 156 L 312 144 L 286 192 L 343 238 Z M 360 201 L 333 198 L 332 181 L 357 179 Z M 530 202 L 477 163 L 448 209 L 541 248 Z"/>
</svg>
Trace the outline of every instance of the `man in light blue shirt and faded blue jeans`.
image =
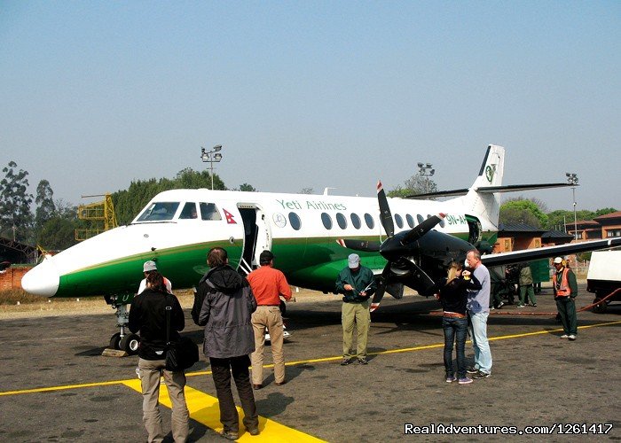
<svg viewBox="0 0 621 443">
<path fill-rule="evenodd" d="M 476 249 L 466 255 L 468 268 L 471 268 L 481 284 L 478 291 L 468 291 L 468 317 L 470 318 L 470 337 L 475 351 L 475 364 L 468 368 L 473 378 L 491 377 L 491 350 L 487 340 L 487 317 L 490 315 L 490 271 L 481 262 L 481 253 Z"/>
</svg>

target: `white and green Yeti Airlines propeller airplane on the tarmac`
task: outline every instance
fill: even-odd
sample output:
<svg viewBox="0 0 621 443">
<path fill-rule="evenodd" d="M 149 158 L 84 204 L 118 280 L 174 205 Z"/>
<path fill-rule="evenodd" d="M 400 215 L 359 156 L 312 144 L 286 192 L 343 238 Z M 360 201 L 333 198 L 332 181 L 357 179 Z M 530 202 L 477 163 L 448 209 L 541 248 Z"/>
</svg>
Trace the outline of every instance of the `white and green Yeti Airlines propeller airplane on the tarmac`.
<svg viewBox="0 0 621 443">
<path fill-rule="evenodd" d="M 289 284 L 326 293 L 359 254 L 378 280 L 373 309 L 385 292 L 396 299 L 408 286 L 429 295 L 452 260 L 468 250 L 489 250 L 498 237 L 500 193 L 573 186 L 570 183 L 502 185 L 505 148 L 489 145 L 468 189 L 417 196 L 444 201 L 387 198 L 381 183 L 375 198 L 332 195 L 166 190 L 126 226 L 111 229 L 43 261 L 23 276 L 25 291 L 46 297 L 103 295 L 116 310 L 110 347 L 136 354 L 139 338 L 127 330 L 127 305 L 155 260 L 175 288 L 191 288 L 208 271 L 206 254 L 226 248 L 230 264 L 248 274 L 269 249 Z M 483 255 L 495 266 L 621 245 L 621 237 Z"/>
</svg>

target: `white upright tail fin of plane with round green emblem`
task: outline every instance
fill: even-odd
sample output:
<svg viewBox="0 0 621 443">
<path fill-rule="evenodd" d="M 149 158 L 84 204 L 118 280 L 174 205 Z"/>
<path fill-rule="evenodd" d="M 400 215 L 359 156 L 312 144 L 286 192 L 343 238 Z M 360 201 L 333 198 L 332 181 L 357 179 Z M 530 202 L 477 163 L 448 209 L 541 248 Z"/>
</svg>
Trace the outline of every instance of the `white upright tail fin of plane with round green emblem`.
<svg viewBox="0 0 621 443">
<path fill-rule="evenodd" d="M 491 221 L 493 226 L 483 227 L 483 229 L 498 228 L 500 194 L 491 192 L 489 188 L 502 185 L 504 169 L 505 148 L 490 144 L 487 147 L 479 175 L 462 200 L 469 214 L 476 216 L 480 221 Z"/>
</svg>

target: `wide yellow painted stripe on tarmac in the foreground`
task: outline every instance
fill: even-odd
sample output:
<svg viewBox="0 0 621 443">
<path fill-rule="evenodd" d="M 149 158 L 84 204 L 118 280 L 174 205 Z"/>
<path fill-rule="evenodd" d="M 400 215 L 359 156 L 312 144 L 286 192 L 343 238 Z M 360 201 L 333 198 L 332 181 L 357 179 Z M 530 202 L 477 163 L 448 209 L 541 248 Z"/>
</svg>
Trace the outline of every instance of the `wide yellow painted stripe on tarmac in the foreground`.
<svg viewBox="0 0 621 443">
<path fill-rule="evenodd" d="M 123 382 L 126 385 L 142 393 L 140 380 L 128 380 Z M 169 392 L 166 385 L 160 385 L 160 403 L 168 408 L 172 408 L 172 403 L 169 398 Z M 190 417 L 197 422 L 204 424 L 208 428 L 214 431 L 222 431 L 222 424 L 220 423 L 220 408 L 218 408 L 217 398 L 200 392 L 188 385 L 185 385 L 185 403 L 190 410 Z M 243 410 L 237 408 L 237 412 L 241 418 L 244 416 Z M 240 439 L 239 441 L 296 441 L 296 442 L 319 442 L 324 441 L 317 439 L 309 434 L 305 434 L 302 431 L 296 431 L 293 428 L 289 428 L 283 424 L 279 424 L 259 416 L 259 431 L 261 433 L 258 436 L 252 437 L 248 432 L 244 430 L 243 425 L 240 426 Z M 243 432 L 243 433 L 242 433 Z"/>
</svg>

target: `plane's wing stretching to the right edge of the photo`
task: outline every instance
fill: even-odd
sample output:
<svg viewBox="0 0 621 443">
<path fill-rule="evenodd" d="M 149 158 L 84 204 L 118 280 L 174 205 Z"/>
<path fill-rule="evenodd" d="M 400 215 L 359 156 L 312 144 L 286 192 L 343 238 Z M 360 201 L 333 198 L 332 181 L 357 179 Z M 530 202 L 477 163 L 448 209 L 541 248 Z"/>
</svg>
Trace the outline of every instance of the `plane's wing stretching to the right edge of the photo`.
<svg viewBox="0 0 621 443">
<path fill-rule="evenodd" d="M 491 253 L 481 256 L 485 266 L 501 266 L 520 261 L 546 259 L 570 253 L 586 253 L 598 249 L 609 249 L 621 246 L 621 237 L 608 238 L 606 240 L 593 240 L 590 242 L 570 243 L 567 245 L 547 246 L 542 248 L 524 249 L 511 253 Z"/>
</svg>

